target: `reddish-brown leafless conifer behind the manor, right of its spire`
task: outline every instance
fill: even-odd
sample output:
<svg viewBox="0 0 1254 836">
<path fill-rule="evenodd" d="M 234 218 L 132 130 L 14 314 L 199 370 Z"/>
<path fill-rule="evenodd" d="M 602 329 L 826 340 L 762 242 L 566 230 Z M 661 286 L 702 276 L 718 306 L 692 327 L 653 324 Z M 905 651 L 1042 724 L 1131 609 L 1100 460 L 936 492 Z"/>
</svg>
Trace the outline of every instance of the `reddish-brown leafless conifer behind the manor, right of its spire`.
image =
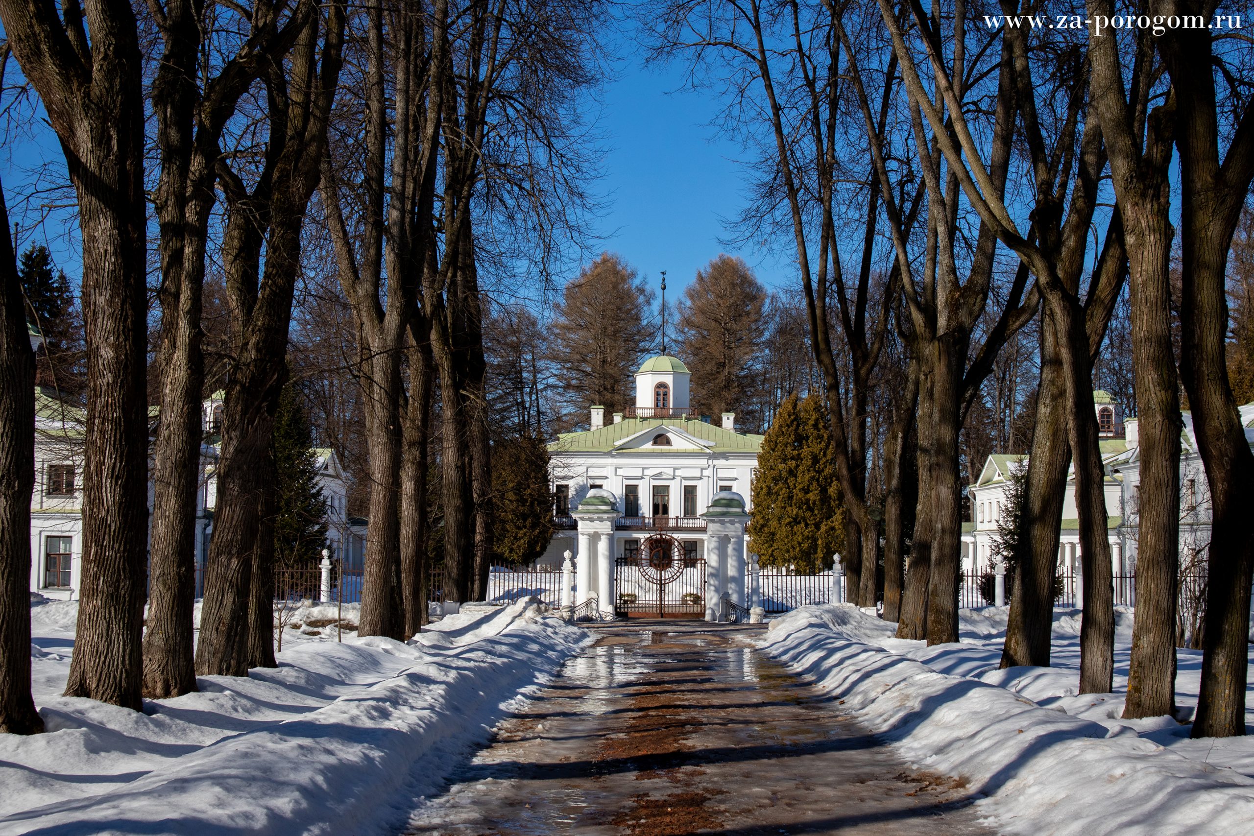
<svg viewBox="0 0 1254 836">
<path fill-rule="evenodd" d="M 680 301 L 680 351 L 692 372 L 692 407 L 715 419 L 736 412 L 760 426 L 760 357 L 766 337 L 766 290 L 741 258 L 720 254 Z"/>
</svg>

